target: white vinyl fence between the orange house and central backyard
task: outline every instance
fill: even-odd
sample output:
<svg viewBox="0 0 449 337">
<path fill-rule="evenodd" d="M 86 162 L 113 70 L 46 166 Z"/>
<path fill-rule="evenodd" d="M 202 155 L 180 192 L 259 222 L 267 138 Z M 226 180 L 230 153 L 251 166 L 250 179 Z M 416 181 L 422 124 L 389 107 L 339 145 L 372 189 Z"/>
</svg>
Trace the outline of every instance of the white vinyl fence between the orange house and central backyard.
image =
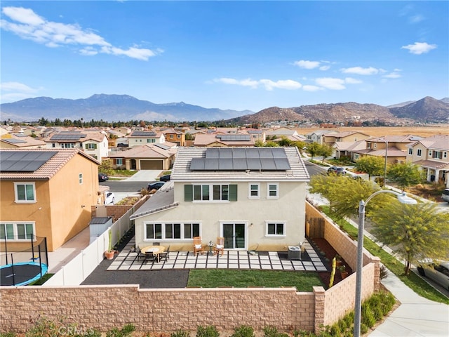
<svg viewBox="0 0 449 337">
<path fill-rule="evenodd" d="M 78 286 L 95 270 L 105 258 L 105 251 L 109 248 L 109 230 L 112 233 L 112 246 L 114 246 L 123 234 L 131 227 L 130 216 L 135 207 L 130 208 L 119 220 L 116 220 L 104 233 L 83 249 L 67 265 L 55 273 L 43 286 Z"/>
</svg>

